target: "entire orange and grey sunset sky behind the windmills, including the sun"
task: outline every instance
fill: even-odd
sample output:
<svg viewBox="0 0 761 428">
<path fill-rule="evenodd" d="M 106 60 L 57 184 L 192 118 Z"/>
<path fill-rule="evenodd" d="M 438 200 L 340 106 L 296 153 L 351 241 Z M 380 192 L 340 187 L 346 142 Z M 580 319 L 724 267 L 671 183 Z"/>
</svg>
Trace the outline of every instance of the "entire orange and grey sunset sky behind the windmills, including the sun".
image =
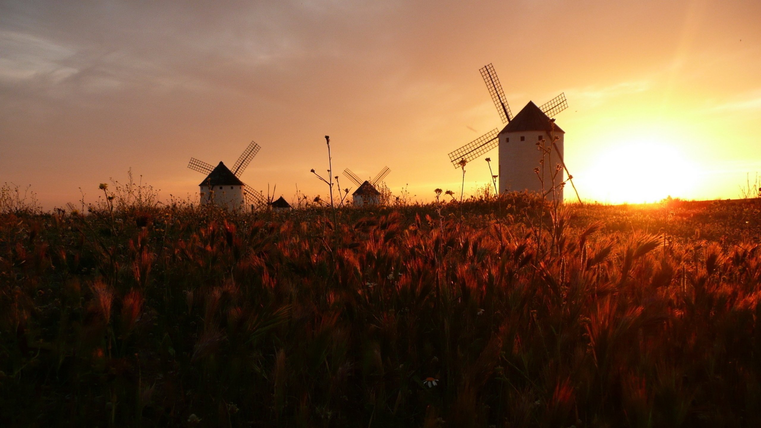
<svg viewBox="0 0 761 428">
<path fill-rule="evenodd" d="M 194 197 L 189 158 L 231 165 L 254 140 L 247 184 L 324 197 L 330 135 L 334 174 L 388 166 L 393 193 L 431 200 L 459 193 L 447 153 L 501 127 L 491 62 L 513 113 L 565 92 L 582 199 L 737 198 L 761 173 L 759 18 L 758 0 L 0 0 L 0 184 L 51 209 L 132 168 Z"/>
</svg>

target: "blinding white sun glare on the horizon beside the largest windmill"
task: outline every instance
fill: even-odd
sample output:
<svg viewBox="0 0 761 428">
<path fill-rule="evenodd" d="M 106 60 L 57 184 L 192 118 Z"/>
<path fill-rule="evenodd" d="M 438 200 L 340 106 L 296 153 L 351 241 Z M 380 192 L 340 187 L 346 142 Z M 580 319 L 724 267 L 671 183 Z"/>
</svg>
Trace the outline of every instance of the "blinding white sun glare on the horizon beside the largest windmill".
<svg viewBox="0 0 761 428">
<path fill-rule="evenodd" d="M 653 136 L 631 137 L 600 152 L 587 172 L 591 199 L 602 203 L 651 203 L 686 197 L 696 165 L 677 146 Z"/>
</svg>

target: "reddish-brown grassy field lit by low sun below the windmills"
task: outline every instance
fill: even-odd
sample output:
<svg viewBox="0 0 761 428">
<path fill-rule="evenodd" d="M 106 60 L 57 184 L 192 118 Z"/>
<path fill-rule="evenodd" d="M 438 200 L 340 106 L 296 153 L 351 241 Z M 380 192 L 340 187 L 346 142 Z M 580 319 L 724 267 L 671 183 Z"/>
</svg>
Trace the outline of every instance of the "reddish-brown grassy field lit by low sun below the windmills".
<svg viewBox="0 0 761 428">
<path fill-rule="evenodd" d="M 4 214 L 0 424 L 759 426 L 759 211 Z"/>
</svg>

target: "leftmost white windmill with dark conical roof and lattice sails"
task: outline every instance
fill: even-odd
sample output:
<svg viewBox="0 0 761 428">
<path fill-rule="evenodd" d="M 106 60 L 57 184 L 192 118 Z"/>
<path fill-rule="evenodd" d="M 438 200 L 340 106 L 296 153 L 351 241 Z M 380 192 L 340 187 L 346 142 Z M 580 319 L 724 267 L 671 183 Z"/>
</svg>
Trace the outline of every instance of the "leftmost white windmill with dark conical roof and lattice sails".
<svg viewBox="0 0 761 428">
<path fill-rule="evenodd" d="M 259 153 L 260 145 L 250 142 L 248 147 L 237 158 L 232 170 L 224 162 L 219 162 L 215 167 L 196 158 L 190 158 L 188 168 L 206 174 L 199 187 L 201 187 L 201 203 L 213 203 L 228 209 L 243 209 L 246 206 L 266 206 L 267 200 L 260 193 L 256 193 L 243 181 L 240 174 L 246 170 L 251 159 Z"/>
</svg>

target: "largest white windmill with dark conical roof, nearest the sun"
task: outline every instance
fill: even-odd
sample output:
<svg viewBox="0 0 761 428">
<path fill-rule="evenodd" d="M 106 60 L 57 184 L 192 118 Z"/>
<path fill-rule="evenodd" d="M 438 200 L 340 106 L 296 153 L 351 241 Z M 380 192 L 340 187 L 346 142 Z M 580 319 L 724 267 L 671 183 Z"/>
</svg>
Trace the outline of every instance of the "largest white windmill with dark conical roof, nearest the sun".
<svg viewBox="0 0 761 428">
<path fill-rule="evenodd" d="M 499 193 L 508 190 L 529 190 L 551 197 L 554 191 L 559 200 L 562 200 L 563 174 L 562 171 L 559 174 L 555 172 L 556 164 L 560 164 L 568 174 L 563 161 L 565 131 L 550 118 L 568 107 L 565 93 L 552 98 L 541 107 L 529 101 L 526 107 L 513 117 L 492 64 L 479 69 L 479 72 L 486 82 L 486 88 L 492 96 L 502 123 L 507 125 L 501 131 L 497 128 L 492 129 L 451 152 L 449 160 L 454 164 L 454 168 L 460 168 L 463 160 L 473 161 L 498 146 Z M 537 172 L 534 171 L 537 167 L 542 180 L 539 180 Z M 571 174 L 568 174 L 568 177 L 571 178 Z"/>
</svg>

